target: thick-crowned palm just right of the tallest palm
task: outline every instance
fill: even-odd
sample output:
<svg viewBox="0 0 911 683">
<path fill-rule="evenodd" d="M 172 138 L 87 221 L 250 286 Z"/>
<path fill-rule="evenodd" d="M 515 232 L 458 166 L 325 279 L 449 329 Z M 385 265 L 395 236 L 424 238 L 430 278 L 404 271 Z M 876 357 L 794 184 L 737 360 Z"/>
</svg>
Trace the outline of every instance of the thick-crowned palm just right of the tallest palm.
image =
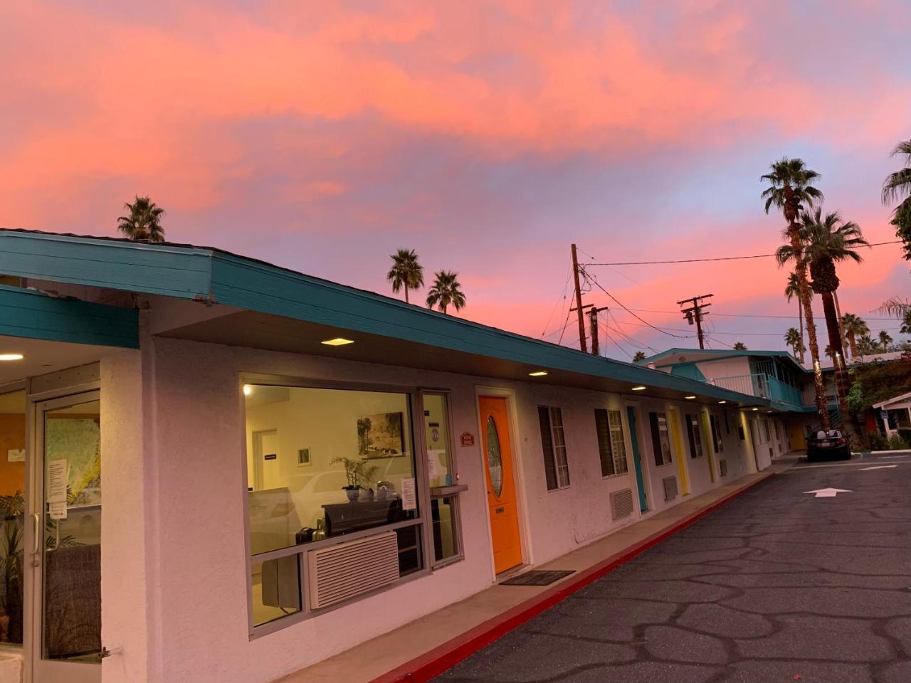
<svg viewBox="0 0 911 683">
<path fill-rule="evenodd" d="M 823 216 L 822 209 L 813 212 L 804 211 L 800 217 L 800 240 L 803 242 L 801 251 L 810 264 L 810 283 L 813 291 L 823 300 L 825 312 L 825 327 L 829 333 L 829 346 L 832 351 L 835 372 L 835 394 L 838 407 L 846 420 L 847 404 L 845 397 L 848 392 L 847 373 L 844 368 L 844 347 L 842 346 L 842 333 L 838 326 L 838 313 L 835 309 L 834 291 L 838 289 L 839 280 L 835 273 L 835 263 L 843 260 L 860 262 L 863 257 L 856 249 L 869 246 L 864 239 L 860 227 L 852 221 L 844 221 L 837 211 Z M 794 258 L 790 244 L 785 244 L 776 252 L 778 262 L 786 263 Z M 845 430 L 847 431 L 847 430 Z"/>
</svg>

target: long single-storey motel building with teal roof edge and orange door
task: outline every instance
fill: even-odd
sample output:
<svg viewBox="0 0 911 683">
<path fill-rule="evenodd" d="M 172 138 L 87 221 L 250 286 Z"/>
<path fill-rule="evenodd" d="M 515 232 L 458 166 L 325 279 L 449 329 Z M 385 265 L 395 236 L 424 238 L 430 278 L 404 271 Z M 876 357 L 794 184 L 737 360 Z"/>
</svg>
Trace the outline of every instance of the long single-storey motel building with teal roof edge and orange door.
<svg viewBox="0 0 911 683">
<path fill-rule="evenodd" d="M 272 681 L 786 450 L 784 403 L 220 250 L 0 273 L 3 682 Z"/>
</svg>

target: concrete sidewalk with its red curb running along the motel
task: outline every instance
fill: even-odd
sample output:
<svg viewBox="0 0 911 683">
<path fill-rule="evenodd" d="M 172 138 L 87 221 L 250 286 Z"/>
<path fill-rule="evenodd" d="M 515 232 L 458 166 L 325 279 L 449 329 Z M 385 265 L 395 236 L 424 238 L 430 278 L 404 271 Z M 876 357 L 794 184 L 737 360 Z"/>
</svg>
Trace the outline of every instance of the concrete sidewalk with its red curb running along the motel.
<svg viewBox="0 0 911 683">
<path fill-rule="evenodd" d="M 535 569 L 571 569 L 550 586 L 495 585 L 282 678 L 282 683 L 418 683 L 454 666 L 569 594 L 793 463 L 773 464 L 560 556 Z"/>
</svg>

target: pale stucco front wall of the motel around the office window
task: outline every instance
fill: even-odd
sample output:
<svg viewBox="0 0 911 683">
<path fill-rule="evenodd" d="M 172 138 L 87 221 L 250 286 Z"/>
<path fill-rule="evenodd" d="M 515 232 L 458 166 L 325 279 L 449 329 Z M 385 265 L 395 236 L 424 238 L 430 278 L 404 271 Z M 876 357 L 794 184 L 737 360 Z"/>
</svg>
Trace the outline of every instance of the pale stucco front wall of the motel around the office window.
<svg viewBox="0 0 911 683">
<path fill-rule="evenodd" d="M 106 429 L 118 421 L 122 425 L 103 436 L 105 447 L 124 452 L 117 467 L 108 471 L 105 465 L 105 514 L 123 520 L 105 526 L 104 532 L 104 556 L 109 559 L 103 560 L 102 576 L 105 643 L 123 643 L 121 661 L 106 660 L 105 683 L 264 683 L 490 586 L 495 577 L 478 394 L 505 392 L 515 410 L 512 442 L 527 563 L 547 562 L 639 519 L 638 505 L 637 512 L 621 522 L 610 519 L 610 492 L 636 491 L 630 434 L 625 433 L 629 474 L 602 477 L 595 408 L 619 410 L 627 426 L 626 403 L 639 404 L 639 443 L 650 514 L 666 506 L 660 479 L 678 474 L 680 457 L 692 495 L 711 485 L 708 457 L 689 458 L 685 432 L 681 433 L 683 453 L 678 454 L 672 443 L 674 462 L 655 467 L 648 410 L 649 406 L 666 408 L 665 401 L 162 338 L 146 337 L 143 344 L 141 367 L 138 354 L 118 364 L 110 361 L 102 385 L 103 395 L 110 400 L 103 405 L 111 410 L 116 406 L 118 411 L 103 418 Z M 460 497 L 466 559 L 251 639 L 243 534 L 247 484 L 243 372 L 448 389 L 456 437 L 463 432 L 478 437 L 474 446 L 456 445 L 460 483 L 469 487 Z M 545 484 L 539 404 L 562 409 L 570 476 L 565 489 L 548 491 Z M 701 410 L 693 403 L 675 404 L 681 418 Z M 144 424 L 141 431 L 135 430 L 138 414 Z M 132 431 L 128 416 L 134 420 Z M 711 447 L 711 433 L 704 429 L 703 444 Z M 732 463 L 742 463 L 745 457 L 733 424 L 725 457 L 730 474 L 716 477 L 714 485 L 730 481 L 735 475 Z M 717 457 L 713 462 L 717 471 Z M 682 495 L 670 505 L 681 500 Z M 134 627 L 128 637 L 116 637 Z"/>
</svg>

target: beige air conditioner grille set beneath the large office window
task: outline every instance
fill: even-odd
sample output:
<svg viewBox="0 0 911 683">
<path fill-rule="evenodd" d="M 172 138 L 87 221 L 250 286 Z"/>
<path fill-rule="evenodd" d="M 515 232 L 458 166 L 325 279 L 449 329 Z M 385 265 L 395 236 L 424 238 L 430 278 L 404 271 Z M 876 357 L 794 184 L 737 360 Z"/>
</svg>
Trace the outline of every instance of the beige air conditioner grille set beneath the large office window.
<svg viewBox="0 0 911 683">
<path fill-rule="evenodd" d="M 398 580 L 394 531 L 307 553 L 310 607 L 322 609 Z"/>
</svg>

